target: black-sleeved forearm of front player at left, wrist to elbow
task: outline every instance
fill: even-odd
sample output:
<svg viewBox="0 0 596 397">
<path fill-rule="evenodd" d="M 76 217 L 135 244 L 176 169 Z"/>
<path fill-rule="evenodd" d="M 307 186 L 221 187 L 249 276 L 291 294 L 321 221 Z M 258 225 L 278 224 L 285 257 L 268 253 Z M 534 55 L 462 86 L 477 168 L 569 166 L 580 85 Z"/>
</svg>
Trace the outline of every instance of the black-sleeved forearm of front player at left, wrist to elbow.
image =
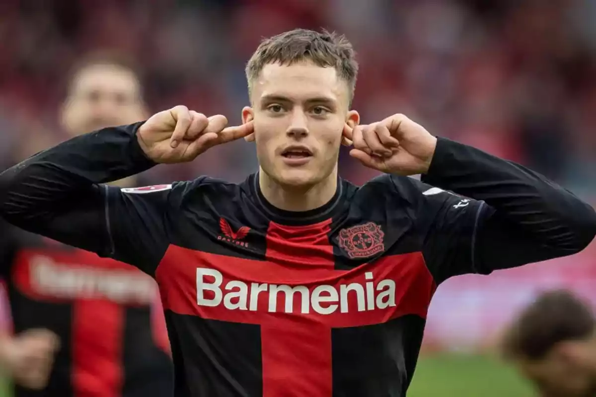
<svg viewBox="0 0 596 397">
<path fill-rule="evenodd" d="M 4 171 L 0 216 L 13 223 L 35 218 L 65 200 L 82 199 L 95 184 L 147 170 L 154 163 L 136 141 L 140 124 L 75 137 Z"/>
</svg>

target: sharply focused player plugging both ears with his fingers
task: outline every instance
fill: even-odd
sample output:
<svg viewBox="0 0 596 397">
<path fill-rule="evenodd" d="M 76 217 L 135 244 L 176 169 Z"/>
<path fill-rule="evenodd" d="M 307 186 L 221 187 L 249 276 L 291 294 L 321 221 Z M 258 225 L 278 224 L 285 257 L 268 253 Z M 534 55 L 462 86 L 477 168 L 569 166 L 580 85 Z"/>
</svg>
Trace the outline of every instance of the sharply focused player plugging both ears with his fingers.
<svg viewBox="0 0 596 397">
<path fill-rule="evenodd" d="M 76 137 L 0 174 L 0 214 L 156 278 L 176 395 L 403 396 L 437 285 L 579 252 L 596 213 L 403 115 L 359 125 L 356 69 L 342 36 L 266 39 L 240 126 L 181 105 Z M 260 170 L 238 185 L 102 185 L 242 137 Z M 338 177 L 342 142 L 386 174 Z"/>
</svg>

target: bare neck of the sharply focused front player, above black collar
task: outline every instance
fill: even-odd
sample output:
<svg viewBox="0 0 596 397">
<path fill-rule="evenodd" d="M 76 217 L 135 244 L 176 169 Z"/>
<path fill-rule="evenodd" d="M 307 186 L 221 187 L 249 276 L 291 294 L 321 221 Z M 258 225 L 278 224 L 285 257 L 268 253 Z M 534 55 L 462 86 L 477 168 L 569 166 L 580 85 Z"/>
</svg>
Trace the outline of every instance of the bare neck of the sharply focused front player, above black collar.
<svg viewBox="0 0 596 397">
<path fill-rule="evenodd" d="M 337 190 L 337 167 L 324 180 L 308 187 L 283 186 L 263 170 L 259 172 L 259 186 L 265 199 L 285 211 L 309 211 L 327 204 Z"/>
</svg>

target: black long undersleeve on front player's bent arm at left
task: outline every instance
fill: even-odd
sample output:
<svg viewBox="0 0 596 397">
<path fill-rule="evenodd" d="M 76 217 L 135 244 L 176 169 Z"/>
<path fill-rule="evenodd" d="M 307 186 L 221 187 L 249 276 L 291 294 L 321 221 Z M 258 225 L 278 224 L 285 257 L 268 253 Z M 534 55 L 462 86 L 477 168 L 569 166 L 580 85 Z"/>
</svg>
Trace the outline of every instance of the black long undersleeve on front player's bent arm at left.
<svg viewBox="0 0 596 397">
<path fill-rule="evenodd" d="M 153 166 L 140 124 L 78 136 L 0 174 L 0 215 L 29 232 L 109 255 L 104 182 Z"/>
</svg>

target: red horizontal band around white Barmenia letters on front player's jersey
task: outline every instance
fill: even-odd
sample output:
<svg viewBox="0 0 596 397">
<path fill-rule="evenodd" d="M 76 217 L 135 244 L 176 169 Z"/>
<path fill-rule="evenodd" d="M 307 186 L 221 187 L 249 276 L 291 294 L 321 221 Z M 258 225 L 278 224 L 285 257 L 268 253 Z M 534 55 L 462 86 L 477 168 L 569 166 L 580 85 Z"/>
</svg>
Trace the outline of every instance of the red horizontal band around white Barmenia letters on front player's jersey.
<svg viewBox="0 0 596 397">
<path fill-rule="evenodd" d="M 351 270 L 332 270 L 328 267 L 318 266 L 296 270 L 269 261 L 228 257 L 170 245 L 162 263 L 167 263 L 167 265 L 160 265 L 157 268 L 156 276 L 165 309 L 179 314 L 198 315 L 202 318 L 235 323 L 262 324 L 263 321 L 269 319 L 288 317 L 288 314 L 284 313 L 284 302 L 281 299 L 284 294 L 278 294 L 278 301 L 282 304 L 277 305 L 276 312 L 268 311 L 269 299 L 263 293 L 253 293 L 253 295 L 257 295 L 258 310 L 256 311 L 228 310 L 224 307 L 223 300 L 214 307 L 201 306 L 197 304 L 197 270 L 212 269 L 221 273 L 222 283 L 219 289 L 222 290 L 222 295 L 231 291 L 225 289 L 226 284 L 231 281 L 246 283 L 249 295 L 252 283 L 268 284 L 269 286 L 306 286 L 309 293 L 312 293 L 313 289 L 320 285 L 335 286 L 359 283 L 365 286 L 368 281 L 365 279 L 365 273 L 368 272 L 374 274 L 375 280 L 389 279 L 395 282 L 395 307 L 370 311 L 358 311 L 357 305 L 352 302 L 355 294 L 350 290 L 348 312 L 336 310 L 331 314 L 319 314 L 311 311 L 308 314 L 302 314 L 300 313 L 302 303 L 300 294 L 294 293 L 294 312 L 291 317 L 317 319 L 329 327 L 380 324 L 406 314 L 415 314 L 426 318 L 430 298 L 434 292 L 432 276 L 427 270 L 420 252 L 383 257 Z M 207 281 L 212 282 L 213 279 Z M 249 303 L 247 301 L 247 307 L 249 307 Z"/>
</svg>

